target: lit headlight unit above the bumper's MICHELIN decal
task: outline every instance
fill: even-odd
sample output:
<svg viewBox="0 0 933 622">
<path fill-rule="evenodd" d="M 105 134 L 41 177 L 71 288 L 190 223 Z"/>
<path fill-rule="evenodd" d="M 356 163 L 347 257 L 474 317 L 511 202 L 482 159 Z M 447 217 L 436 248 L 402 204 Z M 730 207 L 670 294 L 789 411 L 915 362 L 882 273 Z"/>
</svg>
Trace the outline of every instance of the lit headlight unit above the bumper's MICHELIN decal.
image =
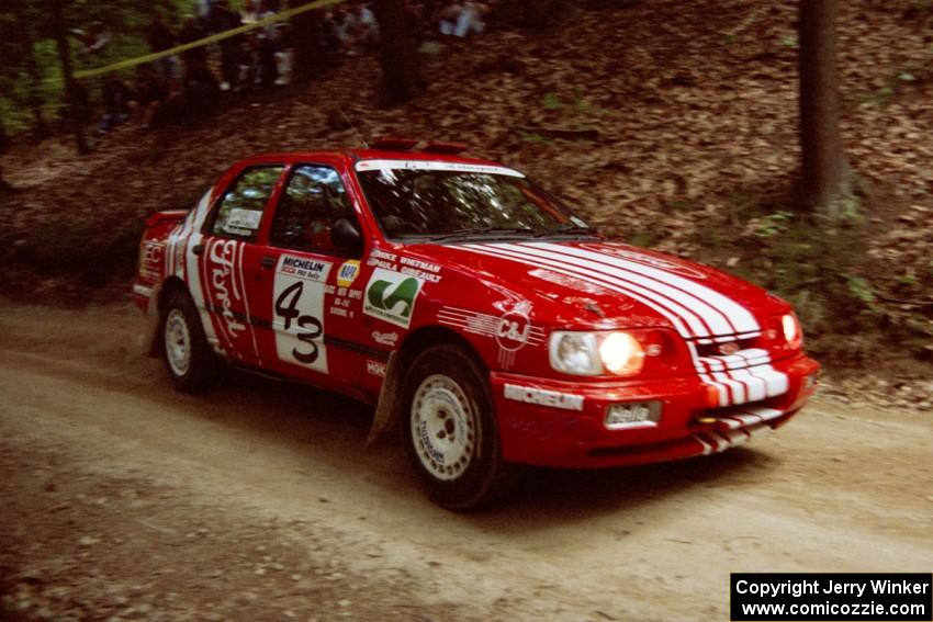
<svg viewBox="0 0 933 622">
<path fill-rule="evenodd" d="M 628 332 L 555 331 L 549 352 L 554 370 L 578 376 L 637 374 L 644 363 L 644 348 Z"/>
</svg>

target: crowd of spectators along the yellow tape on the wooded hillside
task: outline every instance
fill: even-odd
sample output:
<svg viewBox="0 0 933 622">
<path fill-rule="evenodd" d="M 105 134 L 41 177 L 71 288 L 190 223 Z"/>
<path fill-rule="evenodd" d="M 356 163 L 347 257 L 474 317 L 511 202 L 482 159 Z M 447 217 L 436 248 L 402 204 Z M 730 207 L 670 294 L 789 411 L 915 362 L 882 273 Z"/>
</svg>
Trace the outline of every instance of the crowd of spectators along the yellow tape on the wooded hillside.
<svg viewBox="0 0 933 622">
<path fill-rule="evenodd" d="M 281 0 L 244 0 L 239 11 L 231 8 L 229 0 L 201 2 L 202 14 L 187 15 L 178 31 L 156 16 L 145 33 L 150 50 L 164 52 L 256 24 L 282 10 Z M 475 0 L 407 0 L 406 7 L 419 41 L 425 36 L 466 37 L 482 33 L 483 16 L 488 11 L 485 3 Z M 100 132 L 127 121 L 143 127 L 181 121 L 211 110 L 225 91 L 288 84 L 293 59 L 290 27 L 288 20 L 273 22 L 210 46 L 140 65 L 132 83 L 111 75 L 102 87 L 104 114 Z M 97 24 L 82 34 L 89 50 L 97 52 L 109 41 Z M 379 41 L 379 23 L 370 1 L 349 0 L 325 12 L 321 44 L 327 54 L 364 54 L 374 50 Z"/>
</svg>

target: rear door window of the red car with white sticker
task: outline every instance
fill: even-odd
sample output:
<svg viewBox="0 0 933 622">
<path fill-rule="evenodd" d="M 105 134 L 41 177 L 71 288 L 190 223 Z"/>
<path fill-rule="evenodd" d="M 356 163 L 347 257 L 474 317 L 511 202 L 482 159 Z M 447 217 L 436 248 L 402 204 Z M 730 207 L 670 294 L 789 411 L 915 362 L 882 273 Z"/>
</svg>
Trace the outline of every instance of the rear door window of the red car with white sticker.
<svg viewBox="0 0 933 622">
<path fill-rule="evenodd" d="M 283 169 L 279 165 L 254 167 L 240 173 L 221 199 L 211 233 L 251 241 L 259 230 L 262 211 Z"/>
</svg>

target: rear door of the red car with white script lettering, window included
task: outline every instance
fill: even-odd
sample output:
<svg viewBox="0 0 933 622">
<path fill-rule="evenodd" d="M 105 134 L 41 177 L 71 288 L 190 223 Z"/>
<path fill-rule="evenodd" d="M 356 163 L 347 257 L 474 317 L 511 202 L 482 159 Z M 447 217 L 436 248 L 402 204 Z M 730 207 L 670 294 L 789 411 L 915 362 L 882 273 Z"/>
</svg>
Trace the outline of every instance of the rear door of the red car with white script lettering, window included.
<svg viewBox="0 0 933 622">
<path fill-rule="evenodd" d="M 235 174 L 188 249 L 199 268 L 195 299 L 200 294 L 218 347 L 248 365 L 266 366 L 257 332 L 262 249 L 257 242 L 284 170 L 282 163 L 263 163 Z"/>
</svg>

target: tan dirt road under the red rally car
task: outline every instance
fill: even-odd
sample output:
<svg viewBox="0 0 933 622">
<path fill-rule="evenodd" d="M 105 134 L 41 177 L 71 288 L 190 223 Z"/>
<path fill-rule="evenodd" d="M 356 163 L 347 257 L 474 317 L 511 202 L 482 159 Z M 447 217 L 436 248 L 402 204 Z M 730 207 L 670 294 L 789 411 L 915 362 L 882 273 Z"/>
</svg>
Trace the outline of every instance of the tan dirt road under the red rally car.
<svg viewBox="0 0 933 622">
<path fill-rule="evenodd" d="M 0 618 L 727 620 L 730 572 L 933 569 L 933 419 L 817 399 L 709 459 L 459 516 L 371 412 L 175 393 L 128 305 L 0 306 Z"/>
</svg>

